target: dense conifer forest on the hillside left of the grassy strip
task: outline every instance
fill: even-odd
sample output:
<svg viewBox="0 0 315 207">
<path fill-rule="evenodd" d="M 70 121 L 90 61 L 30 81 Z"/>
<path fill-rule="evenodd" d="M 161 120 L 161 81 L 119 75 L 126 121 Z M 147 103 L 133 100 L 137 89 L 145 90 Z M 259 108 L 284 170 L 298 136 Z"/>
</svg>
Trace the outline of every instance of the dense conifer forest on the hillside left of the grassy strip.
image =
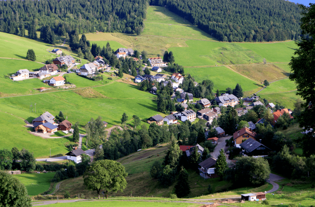
<svg viewBox="0 0 315 207">
<path fill-rule="evenodd" d="M 37 38 L 36 31 L 43 26 L 60 36 L 76 28 L 80 33 L 140 34 L 146 8 L 146 0 L 0 1 L 0 31 L 24 36 L 27 29 L 31 39 Z"/>
</svg>

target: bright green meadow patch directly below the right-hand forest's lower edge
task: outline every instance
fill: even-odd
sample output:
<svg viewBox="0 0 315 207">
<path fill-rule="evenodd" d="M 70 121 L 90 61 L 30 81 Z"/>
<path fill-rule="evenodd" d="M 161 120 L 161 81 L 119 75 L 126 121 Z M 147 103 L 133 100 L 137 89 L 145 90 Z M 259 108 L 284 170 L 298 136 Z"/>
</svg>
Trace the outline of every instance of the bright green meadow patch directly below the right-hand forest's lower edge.
<svg viewBox="0 0 315 207">
<path fill-rule="evenodd" d="M 266 58 L 271 63 L 289 63 L 297 46 L 295 41 L 278 43 L 237 43 L 243 48 L 250 49 Z M 255 57 L 254 57 L 255 58 Z"/>
</svg>

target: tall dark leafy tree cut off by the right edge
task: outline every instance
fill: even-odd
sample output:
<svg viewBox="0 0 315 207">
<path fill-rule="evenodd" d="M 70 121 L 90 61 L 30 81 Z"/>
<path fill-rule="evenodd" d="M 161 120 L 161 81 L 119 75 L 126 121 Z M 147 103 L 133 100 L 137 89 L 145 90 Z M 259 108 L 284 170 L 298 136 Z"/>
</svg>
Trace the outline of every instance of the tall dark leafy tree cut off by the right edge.
<svg viewBox="0 0 315 207">
<path fill-rule="evenodd" d="M 315 4 L 310 3 L 309 7 L 299 5 L 302 11 L 301 30 L 302 38 L 297 42 L 299 47 L 295 51 L 295 56 L 291 58 L 289 63 L 292 74 L 290 80 L 297 85 L 297 94 L 300 95 L 305 103 L 302 106 L 307 108 L 299 116 L 299 123 L 301 127 L 306 129 L 314 128 L 315 120 L 310 118 L 315 115 Z M 309 105 L 312 104 L 312 105 Z M 309 143 L 314 140 L 314 130 L 303 138 L 303 153 L 306 155 L 314 154 L 315 148 Z"/>
</svg>

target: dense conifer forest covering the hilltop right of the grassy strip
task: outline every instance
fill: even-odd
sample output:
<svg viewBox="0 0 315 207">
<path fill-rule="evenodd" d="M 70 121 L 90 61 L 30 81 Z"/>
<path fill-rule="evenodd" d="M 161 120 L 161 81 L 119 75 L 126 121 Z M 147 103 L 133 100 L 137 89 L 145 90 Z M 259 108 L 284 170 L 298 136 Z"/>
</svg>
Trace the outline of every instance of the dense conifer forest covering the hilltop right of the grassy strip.
<svg viewBox="0 0 315 207">
<path fill-rule="evenodd" d="M 166 7 L 220 41 L 261 42 L 299 39 L 301 9 L 278 0 L 150 0 Z"/>
</svg>

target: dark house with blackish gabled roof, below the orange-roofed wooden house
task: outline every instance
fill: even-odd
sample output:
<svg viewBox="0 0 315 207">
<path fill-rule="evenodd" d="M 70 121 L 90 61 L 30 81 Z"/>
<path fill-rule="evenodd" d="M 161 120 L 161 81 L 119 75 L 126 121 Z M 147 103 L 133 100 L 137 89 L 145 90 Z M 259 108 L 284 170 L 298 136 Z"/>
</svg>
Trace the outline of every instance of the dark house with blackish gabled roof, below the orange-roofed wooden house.
<svg viewBox="0 0 315 207">
<path fill-rule="evenodd" d="M 270 148 L 267 148 L 265 145 L 260 142 L 257 142 L 256 140 L 249 138 L 245 140 L 243 143 L 241 143 L 239 146 L 242 149 L 242 154 L 244 156 L 261 156 L 261 155 L 267 155 L 268 152 L 271 151 Z"/>
</svg>

